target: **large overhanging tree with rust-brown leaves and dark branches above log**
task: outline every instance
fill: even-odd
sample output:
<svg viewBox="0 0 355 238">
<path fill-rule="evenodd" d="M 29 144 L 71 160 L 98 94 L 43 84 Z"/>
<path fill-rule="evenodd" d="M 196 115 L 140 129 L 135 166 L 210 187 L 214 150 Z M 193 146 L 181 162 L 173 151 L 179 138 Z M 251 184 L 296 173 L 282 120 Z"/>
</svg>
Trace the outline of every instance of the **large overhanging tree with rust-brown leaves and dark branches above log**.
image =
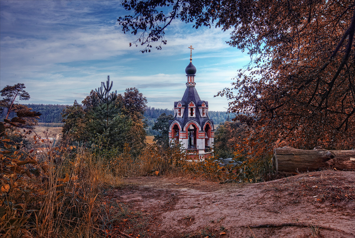
<svg viewBox="0 0 355 238">
<path fill-rule="evenodd" d="M 272 144 L 351 148 L 355 144 L 355 2 L 353 0 L 124 1 L 130 45 L 166 44 L 173 20 L 231 29 L 232 47 L 250 63 L 232 88 L 229 112 Z M 261 137 L 258 137 L 259 139 Z M 264 140 L 262 139 L 262 140 Z"/>
</svg>

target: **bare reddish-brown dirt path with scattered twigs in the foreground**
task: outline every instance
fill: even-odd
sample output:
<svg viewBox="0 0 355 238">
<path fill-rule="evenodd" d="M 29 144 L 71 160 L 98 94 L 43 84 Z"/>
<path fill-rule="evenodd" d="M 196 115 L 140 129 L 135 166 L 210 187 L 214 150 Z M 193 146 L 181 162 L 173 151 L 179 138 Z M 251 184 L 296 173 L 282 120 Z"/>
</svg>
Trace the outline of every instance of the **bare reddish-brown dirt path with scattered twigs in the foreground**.
<svg viewBox="0 0 355 238">
<path fill-rule="evenodd" d="M 151 216 L 146 237 L 355 237 L 354 172 L 244 185 L 153 176 L 125 183 L 109 196 Z"/>
</svg>

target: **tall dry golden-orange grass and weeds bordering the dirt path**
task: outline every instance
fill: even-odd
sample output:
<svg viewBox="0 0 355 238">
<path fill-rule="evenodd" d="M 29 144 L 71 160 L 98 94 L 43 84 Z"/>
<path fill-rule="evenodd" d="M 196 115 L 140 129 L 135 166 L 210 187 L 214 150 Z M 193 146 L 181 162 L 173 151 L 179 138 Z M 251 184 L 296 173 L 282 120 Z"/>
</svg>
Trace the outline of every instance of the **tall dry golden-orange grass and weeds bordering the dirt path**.
<svg viewBox="0 0 355 238">
<path fill-rule="evenodd" d="M 128 144 L 123 153 L 76 148 L 65 141 L 52 146 L 41 138 L 61 128 L 47 128 L 43 134 L 27 135 L 33 140 L 32 147 L 1 138 L 1 149 L 15 146 L 16 150 L 0 154 L 4 155 L 0 164 L 0 237 L 107 237 L 113 224 L 126 219 L 128 222 L 122 224 L 128 225 L 127 231 L 131 227 L 137 233 L 140 228 L 144 230 L 151 216 L 133 216 L 122 204 L 104 201 L 105 190 L 121 186 L 122 177 L 194 174 L 213 175 L 218 180 L 230 176 L 226 171 L 215 175 L 218 167 L 212 162 L 187 164 L 179 147 L 163 150 L 153 143 L 133 158 Z M 39 126 L 36 130 L 43 129 Z M 36 154 L 38 147 L 48 151 Z M 113 214 L 111 211 L 117 209 L 112 207 L 120 212 Z"/>
</svg>

